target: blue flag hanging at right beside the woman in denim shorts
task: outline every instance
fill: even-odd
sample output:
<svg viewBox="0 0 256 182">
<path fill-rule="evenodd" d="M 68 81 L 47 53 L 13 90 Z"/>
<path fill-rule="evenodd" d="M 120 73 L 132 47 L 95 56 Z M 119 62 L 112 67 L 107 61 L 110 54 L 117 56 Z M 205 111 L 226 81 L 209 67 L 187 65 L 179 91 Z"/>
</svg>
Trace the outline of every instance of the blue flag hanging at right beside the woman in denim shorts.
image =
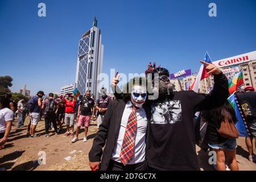
<svg viewBox="0 0 256 182">
<path fill-rule="evenodd" d="M 245 128 L 246 122 L 245 119 L 243 117 L 241 108 L 238 107 L 237 103 L 237 97 L 236 97 L 236 92 L 234 92 L 232 95 L 229 96 L 228 98 L 229 104 L 232 105 L 234 111 L 236 112 L 236 117 L 237 117 L 237 123 L 236 123 L 236 127 L 237 130 L 239 131 L 239 136 L 240 137 L 247 137 L 247 131 Z"/>
</svg>

